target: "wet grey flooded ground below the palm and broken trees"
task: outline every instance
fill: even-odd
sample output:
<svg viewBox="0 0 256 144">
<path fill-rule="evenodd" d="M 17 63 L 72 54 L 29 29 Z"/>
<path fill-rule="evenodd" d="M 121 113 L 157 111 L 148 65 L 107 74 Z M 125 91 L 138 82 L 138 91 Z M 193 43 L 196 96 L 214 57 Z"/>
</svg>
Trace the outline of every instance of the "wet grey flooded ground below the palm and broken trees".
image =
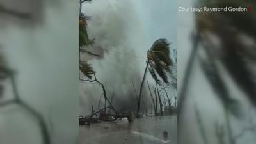
<svg viewBox="0 0 256 144">
<path fill-rule="evenodd" d="M 101 122 L 79 128 L 79 144 L 153 143 L 177 143 L 177 116 L 144 117 L 132 123 L 127 120 Z"/>
</svg>

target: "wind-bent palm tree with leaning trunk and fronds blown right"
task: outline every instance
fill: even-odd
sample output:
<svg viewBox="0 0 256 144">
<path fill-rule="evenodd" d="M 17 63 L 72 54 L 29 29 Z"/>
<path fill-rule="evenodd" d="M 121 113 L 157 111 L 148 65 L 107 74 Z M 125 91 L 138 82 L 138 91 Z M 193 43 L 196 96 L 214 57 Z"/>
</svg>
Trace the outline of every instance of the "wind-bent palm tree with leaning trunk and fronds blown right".
<svg viewBox="0 0 256 144">
<path fill-rule="evenodd" d="M 168 42 L 168 40 L 160 38 L 154 42 L 150 50 L 148 50 L 147 52 L 147 65 L 143 74 L 143 79 L 140 86 L 140 93 L 138 96 L 137 118 L 139 118 L 141 93 L 145 82 L 147 70 L 149 70 L 151 76 L 157 84 L 161 84 L 158 76 L 163 79 L 164 83 L 169 83 L 167 74 L 171 72 L 171 66 L 173 65 L 172 59 L 170 58 L 169 45 L 170 43 Z"/>
</svg>

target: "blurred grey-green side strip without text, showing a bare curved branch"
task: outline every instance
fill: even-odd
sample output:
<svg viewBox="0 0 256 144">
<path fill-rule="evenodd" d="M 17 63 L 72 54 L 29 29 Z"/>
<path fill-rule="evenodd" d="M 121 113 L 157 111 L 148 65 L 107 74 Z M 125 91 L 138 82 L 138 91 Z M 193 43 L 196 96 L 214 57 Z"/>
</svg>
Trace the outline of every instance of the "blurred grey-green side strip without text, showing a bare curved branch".
<svg viewBox="0 0 256 144">
<path fill-rule="evenodd" d="M 0 1 L 0 143 L 78 143 L 77 1 Z"/>
</svg>

